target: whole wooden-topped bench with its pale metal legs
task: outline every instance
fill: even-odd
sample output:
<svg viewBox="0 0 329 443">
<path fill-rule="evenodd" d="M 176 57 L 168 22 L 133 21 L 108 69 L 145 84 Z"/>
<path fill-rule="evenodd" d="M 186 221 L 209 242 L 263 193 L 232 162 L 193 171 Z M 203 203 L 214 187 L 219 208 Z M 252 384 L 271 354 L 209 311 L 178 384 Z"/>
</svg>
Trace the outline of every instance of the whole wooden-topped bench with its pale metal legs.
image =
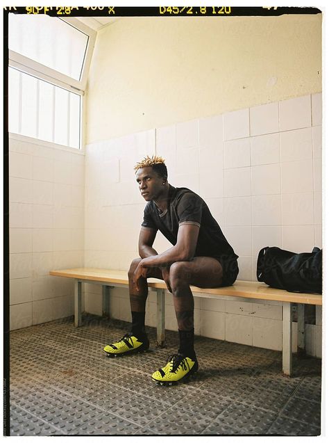
<svg viewBox="0 0 329 443">
<path fill-rule="evenodd" d="M 69 277 L 75 280 L 74 289 L 74 324 L 81 325 L 82 284 L 96 283 L 102 285 L 103 315 L 110 315 L 111 287 L 128 287 L 127 271 L 115 271 L 98 268 L 75 268 L 50 271 L 50 275 Z M 157 293 L 157 342 L 165 342 L 165 282 L 156 278 L 148 279 L 149 289 Z M 305 349 L 304 305 L 322 305 L 322 296 L 311 293 L 293 293 L 273 289 L 259 282 L 237 280 L 233 286 L 214 289 L 191 287 L 194 296 L 204 298 L 224 298 L 230 300 L 267 300 L 269 304 L 282 305 L 282 371 L 286 376 L 292 375 L 292 303 L 298 303 L 298 351 Z"/>
</svg>

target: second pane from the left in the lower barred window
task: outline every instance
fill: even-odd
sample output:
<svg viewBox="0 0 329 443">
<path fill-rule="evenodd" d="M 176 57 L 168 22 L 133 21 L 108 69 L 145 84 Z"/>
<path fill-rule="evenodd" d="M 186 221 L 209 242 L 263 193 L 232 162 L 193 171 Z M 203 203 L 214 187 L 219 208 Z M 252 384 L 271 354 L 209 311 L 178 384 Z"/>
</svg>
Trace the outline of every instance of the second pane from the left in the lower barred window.
<svg viewBox="0 0 329 443">
<path fill-rule="evenodd" d="M 22 75 L 22 134 L 37 135 L 37 79 Z"/>
</svg>

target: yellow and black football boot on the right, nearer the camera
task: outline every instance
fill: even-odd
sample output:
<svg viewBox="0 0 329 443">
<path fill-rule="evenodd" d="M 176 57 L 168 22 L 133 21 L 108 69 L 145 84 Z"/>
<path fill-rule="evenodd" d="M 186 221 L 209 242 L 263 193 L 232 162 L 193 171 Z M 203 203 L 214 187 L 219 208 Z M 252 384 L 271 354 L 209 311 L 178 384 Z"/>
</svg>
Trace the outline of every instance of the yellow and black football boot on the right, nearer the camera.
<svg viewBox="0 0 329 443">
<path fill-rule="evenodd" d="M 184 357 L 180 354 L 171 355 L 167 359 L 165 367 L 158 369 L 152 374 L 152 379 L 158 385 L 172 385 L 180 380 L 185 380 L 199 369 L 196 357 Z"/>
</svg>

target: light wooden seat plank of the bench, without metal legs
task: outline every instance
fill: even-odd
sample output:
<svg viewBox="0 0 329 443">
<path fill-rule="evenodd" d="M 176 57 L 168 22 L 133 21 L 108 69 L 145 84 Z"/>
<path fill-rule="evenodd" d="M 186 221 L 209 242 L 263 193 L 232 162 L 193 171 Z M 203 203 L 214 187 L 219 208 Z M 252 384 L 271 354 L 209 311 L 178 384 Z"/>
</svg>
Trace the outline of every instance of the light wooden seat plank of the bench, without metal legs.
<svg viewBox="0 0 329 443">
<path fill-rule="evenodd" d="M 126 271 L 115 271 L 98 268 L 74 268 L 50 271 L 50 275 L 58 277 L 71 277 L 79 280 L 91 280 L 95 282 L 128 284 Z M 149 287 L 155 289 L 167 289 L 165 282 L 156 278 L 148 279 Z M 193 293 L 208 293 L 221 296 L 233 296 L 255 298 L 258 300 L 275 300 L 289 303 L 303 303 L 305 305 L 322 305 L 322 296 L 314 293 L 295 293 L 284 289 L 275 289 L 260 282 L 246 282 L 237 280 L 233 286 L 204 289 L 191 286 Z"/>
</svg>

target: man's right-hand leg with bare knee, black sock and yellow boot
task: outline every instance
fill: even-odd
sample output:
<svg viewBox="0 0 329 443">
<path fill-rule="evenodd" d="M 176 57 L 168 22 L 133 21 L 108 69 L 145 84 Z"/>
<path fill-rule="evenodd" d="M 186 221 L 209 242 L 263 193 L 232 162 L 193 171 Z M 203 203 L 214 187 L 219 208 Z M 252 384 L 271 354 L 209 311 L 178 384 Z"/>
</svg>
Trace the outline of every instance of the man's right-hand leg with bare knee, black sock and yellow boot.
<svg viewBox="0 0 329 443">
<path fill-rule="evenodd" d="M 179 348 L 167 365 L 153 373 L 153 380 L 172 383 L 197 371 L 194 352 L 194 298 L 190 285 L 218 287 L 223 281 L 223 268 L 211 257 L 195 257 L 192 261 L 176 261 L 170 266 L 169 282 L 174 297 L 178 323 Z"/>
</svg>

